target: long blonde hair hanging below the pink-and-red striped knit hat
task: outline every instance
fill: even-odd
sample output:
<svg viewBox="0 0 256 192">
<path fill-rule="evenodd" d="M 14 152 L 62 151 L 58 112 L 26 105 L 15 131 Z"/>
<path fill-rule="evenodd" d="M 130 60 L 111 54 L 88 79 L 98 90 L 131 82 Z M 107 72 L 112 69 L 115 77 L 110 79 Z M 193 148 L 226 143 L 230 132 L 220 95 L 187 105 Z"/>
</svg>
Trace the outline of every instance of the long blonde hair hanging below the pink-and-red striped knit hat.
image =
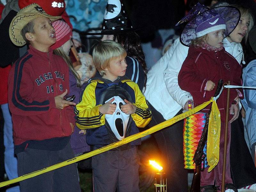
<svg viewBox="0 0 256 192">
<path fill-rule="evenodd" d="M 74 67 L 72 65 L 72 61 L 71 61 L 70 57 L 67 55 L 67 53 L 64 52 L 62 47 L 58 47 L 57 49 L 54 49 L 53 53 L 55 55 L 59 55 L 60 57 L 62 57 L 66 61 L 66 63 L 68 64 L 68 68 L 70 69 L 70 71 L 73 73 L 73 75 L 76 78 L 76 86 L 80 87 L 81 86 L 81 79 L 80 79 L 79 75 L 76 73 L 76 70 L 74 69 Z"/>
</svg>

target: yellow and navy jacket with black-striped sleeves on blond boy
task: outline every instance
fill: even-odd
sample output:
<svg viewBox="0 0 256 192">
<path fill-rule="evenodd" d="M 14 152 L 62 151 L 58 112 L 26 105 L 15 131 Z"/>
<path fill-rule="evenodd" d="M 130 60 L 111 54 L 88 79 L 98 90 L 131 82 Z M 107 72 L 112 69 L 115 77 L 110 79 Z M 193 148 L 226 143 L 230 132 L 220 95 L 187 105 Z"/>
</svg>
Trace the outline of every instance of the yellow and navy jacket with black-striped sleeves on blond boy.
<svg viewBox="0 0 256 192">
<path fill-rule="evenodd" d="M 131 115 L 132 124 L 129 135 L 138 133 L 138 127 L 145 127 L 151 120 L 151 110 L 147 101 L 139 86 L 132 80 L 125 76 L 119 77 L 114 82 L 102 77 L 92 78 L 84 90 L 81 102 L 76 105 L 76 126 L 79 129 L 87 129 L 87 143 L 98 148 L 113 142 L 105 127 L 105 115 L 99 111 L 99 107 L 102 106 L 100 103 L 102 93 L 113 84 L 124 88 L 131 95 L 132 103 L 137 107 L 135 113 Z M 131 142 L 131 147 L 135 145 L 140 145 L 140 140 Z"/>
</svg>

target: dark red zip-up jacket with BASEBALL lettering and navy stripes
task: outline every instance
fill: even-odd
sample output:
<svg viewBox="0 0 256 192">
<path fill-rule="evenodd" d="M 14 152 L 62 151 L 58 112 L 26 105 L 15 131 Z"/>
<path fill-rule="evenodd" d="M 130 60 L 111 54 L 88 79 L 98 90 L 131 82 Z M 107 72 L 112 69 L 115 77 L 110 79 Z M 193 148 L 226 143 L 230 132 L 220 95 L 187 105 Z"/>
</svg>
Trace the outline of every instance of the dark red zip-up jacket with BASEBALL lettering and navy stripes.
<svg viewBox="0 0 256 192">
<path fill-rule="evenodd" d="M 69 91 L 68 66 L 52 50 L 29 50 L 12 66 L 8 103 L 12 113 L 14 145 L 71 135 L 75 124 L 72 106 L 57 109 L 54 97 Z"/>
</svg>

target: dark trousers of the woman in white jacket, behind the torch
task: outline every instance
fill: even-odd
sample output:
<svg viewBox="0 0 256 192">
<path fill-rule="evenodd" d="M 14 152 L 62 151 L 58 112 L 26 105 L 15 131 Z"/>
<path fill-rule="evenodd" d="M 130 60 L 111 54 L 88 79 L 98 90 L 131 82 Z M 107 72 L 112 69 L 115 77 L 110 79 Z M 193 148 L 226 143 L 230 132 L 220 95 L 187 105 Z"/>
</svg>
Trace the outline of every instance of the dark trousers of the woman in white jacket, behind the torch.
<svg viewBox="0 0 256 192">
<path fill-rule="evenodd" d="M 152 121 L 149 127 L 164 122 L 164 117 L 152 105 L 150 107 Z M 176 115 L 181 114 L 182 110 Z M 181 120 L 154 134 L 158 148 L 162 153 L 161 157 L 163 158 L 163 167 L 166 172 L 168 191 L 188 191 L 188 170 L 184 169 L 183 156 L 183 122 Z"/>
</svg>

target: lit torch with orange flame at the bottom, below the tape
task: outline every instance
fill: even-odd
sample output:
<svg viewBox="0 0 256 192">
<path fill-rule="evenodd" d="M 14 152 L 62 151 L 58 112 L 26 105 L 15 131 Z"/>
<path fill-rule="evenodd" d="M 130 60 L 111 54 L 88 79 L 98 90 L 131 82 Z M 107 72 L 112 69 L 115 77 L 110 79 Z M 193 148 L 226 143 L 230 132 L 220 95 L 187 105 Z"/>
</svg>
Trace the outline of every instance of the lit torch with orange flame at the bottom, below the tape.
<svg viewBox="0 0 256 192">
<path fill-rule="evenodd" d="M 167 192 L 167 178 L 165 178 L 165 173 L 163 167 L 160 166 L 156 161 L 149 160 L 149 164 L 158 170 L 155 178 L 156 192 Z M 164 182 L 165 181 L 165 182 Z"/>
</svg>

